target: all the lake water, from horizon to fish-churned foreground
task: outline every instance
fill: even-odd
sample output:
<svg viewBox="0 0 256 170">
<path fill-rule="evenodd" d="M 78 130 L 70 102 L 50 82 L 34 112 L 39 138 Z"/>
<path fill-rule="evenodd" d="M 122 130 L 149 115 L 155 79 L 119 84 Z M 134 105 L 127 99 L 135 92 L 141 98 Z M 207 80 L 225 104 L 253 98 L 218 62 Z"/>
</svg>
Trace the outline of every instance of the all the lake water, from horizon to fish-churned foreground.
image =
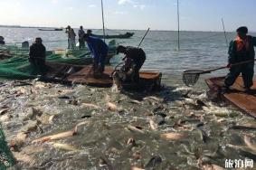
<svg viewBox="0 0 256 170">
<path fill-rule="evenodd" d="M 94 32 L 100 33 L 97 30 Z M 115 32 L 109 31 L 109 34 Z M 133 38 L 117 42 L 137 46 L 145 32 L 133 32 Z M 49 50 L 67 46 L 63 32 L 0 28 L 0 34 L 5 36 L 7 43 L 31 42 L 34 37 L 41 36 Z M 32 108 L 43 112 L 43 115 L 32 118 L 38 127 L 35 126 L 35 131 L 27 132 L 28 137 L 23 146 L 14 152 L 15 156 L 23 160 L 17 166 L 22 169 L 130 169 L 131 166 L 145 166 L 150 158 L 160 156 L 162 163 L 156 164 L 156 169 L 203 169 L 203 165 L 224 167 L 225 159 L 255 160 L 256 154 L 250 149 L 229 146 L 245 146 L 243 140 L 246 135 L 250 135 L 251 142 L 255 143 L 255 129 L 231 128 L 245 123 L 256 127 L 255 120 L 222 102 L 213 103 L 205 94 L 204 78 L 223 75 L 226 71 L 202 76 L 194 89 L 183 86 L 181 80 L 182 72 L 187 69 L 207 69 L 226 64 L 224 34 L 181 32 L 180 51 L 176 49 L 176 36 L 176 32 L 149 32 L 141 46 L 147 53 L 143 69 L 164 74 L 166 88 L 160 92 L 120 94 L 110 89 L 80 85 L 66 87 L 36 80 L 25 81 L 31 85 L 22 86 L 19 84 L 23 82 L 4 82 L 0 90 L 0 106 L 7 106 L 10 110 L 6 114 L 9 117 L 4 115 L 0 119 L 8 142 L 17 138 L 21 129 L 31 123 L 24 118 L 31 113 Z M 229 40 L 234 36 L 234 33 L 228 33 Z M 56 40 L 62 41 L 52 42 Z M 114 59 L 113 62 L 117 61 Z M 186 96 L 188 91 L 191 92 Z M 145 99 L 148 96 L 154 98 Z M 206 106 L 196 105 L 198 99 Z M 108 101 L 116 104 L 119 110 L 109 111 L 106 108 Z M 100 108 L 86 107 L 83 103 L 95 104 Z M 42 123 L 52 115 L 52 122 Z M 161 115 L 166 115 L 165 122 L 153 129 L 150 120 L 160 123 Z M 38 137 L 71 130 L 83 121 L 87 124 L 79 127 L 78 134 L 73 137 L 54 140 L 53 144 L 31 143 Z M 143 133 L 129 126 L 140 127 Z M 166 139 L 161 136 L 163 133 L 184 136 Z M 136 145 L 128 145 L 129 138 L 133 138 Z M 54 146 L 54 143 L 69 144 L 79 151 L 67 151 Z M 100 158 L 109 164 L 100 167 Z"/>
</svg>

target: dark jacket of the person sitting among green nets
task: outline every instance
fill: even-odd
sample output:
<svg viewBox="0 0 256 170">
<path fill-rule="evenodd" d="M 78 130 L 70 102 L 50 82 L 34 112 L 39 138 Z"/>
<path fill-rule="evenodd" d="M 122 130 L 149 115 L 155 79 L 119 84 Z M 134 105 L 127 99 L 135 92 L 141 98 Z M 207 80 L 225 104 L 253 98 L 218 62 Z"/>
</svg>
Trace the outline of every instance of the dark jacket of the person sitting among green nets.
<svg viewBox="0 0 256 170">
<path fill-rule="evenodd" d="M 46 50 L 43 43 L 33 43 L 29 51 L 30 61 L 45 61 Z"/>
</svg>

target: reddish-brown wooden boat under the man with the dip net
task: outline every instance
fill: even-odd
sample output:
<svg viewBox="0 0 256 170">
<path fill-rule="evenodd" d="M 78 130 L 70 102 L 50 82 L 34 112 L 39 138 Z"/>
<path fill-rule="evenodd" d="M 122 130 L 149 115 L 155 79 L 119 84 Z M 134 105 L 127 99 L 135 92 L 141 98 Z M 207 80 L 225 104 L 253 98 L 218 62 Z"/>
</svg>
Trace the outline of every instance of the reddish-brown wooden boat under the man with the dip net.
<svg viewBox="0 0 256 170">
<path fill-rule="evenodd" d="M 222 98 L 242 112 L 256 118 L 256 80 L 253 80 L 253 86 L 251 91 L 245 92 L 243 89 L 242 77 L 238 77 L 235 83 L 231 87 L 231 91 L 221 94 L 221 89 L 224 84 L 225 77 L 216 77 L 205 80 L 209 87 L 207 95 L 210 98 Z"/>
</svg>

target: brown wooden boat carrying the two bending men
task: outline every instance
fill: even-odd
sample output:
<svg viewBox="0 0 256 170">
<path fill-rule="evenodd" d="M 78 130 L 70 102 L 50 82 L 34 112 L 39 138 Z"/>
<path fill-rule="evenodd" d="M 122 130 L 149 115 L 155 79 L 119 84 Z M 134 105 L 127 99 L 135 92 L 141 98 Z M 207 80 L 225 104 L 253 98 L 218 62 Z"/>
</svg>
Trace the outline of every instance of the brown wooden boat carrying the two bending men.
<svg viewBox="0 0 256 170">
<path fill-rule="evenodd" d="M 113 68 L 107 66 L 102 76 L 94 76 L 89 65 L 71 65 L 47 62 L 49 70 L 43 78 L 45 81 L 62 82 L 67 84 L 84 84 L 95 87 L 108 88 L 113 85 L 111 74 Z M 140 83 L 121 84 L 125 90 L 159 90 L 162 74 L 160 72 L 140 72 Z"/>
</svg>

